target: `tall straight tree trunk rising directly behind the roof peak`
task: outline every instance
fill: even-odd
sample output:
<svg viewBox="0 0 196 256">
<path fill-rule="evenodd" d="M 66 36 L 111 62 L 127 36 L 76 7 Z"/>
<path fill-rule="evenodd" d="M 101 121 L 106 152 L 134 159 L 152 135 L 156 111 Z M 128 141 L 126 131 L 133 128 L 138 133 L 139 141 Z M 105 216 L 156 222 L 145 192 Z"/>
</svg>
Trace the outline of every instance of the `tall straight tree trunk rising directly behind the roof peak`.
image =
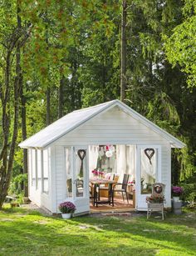
<svg viewBox="0 0 196 256">
<path fill-rule="evenodd" d="M 127 1 L 122 2 L 122 18 L 121 18 L 121 69 L 120 69 L 120 100 L 125 101 L 126 88 L 126 8 Z"/>
</svg>

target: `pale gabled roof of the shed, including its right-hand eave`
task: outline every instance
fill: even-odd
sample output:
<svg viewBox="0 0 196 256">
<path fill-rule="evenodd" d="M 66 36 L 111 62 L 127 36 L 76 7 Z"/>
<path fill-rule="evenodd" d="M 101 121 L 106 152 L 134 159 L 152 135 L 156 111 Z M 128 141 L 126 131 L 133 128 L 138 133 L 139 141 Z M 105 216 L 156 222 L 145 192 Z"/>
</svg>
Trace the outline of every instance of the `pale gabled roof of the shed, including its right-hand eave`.
<svg viewBox="0 0 196 256">
<path fill-rule="evenodd" d="M 47 128 L 43 128 L 40 132 L 34 134 L 32 137 L 27 138 L 25 141 L 19 144 L 21 148 L 46 148 L 49 144 L 54 143 L 56 139 L 66 135 L 75 128 L 78 128 L 82 123 L 86 123 L 89 119 L 95 117 L 97 114 L 105 112 L 110 108 L 118 106 L 125 113 L 130 114 L 133 118 L 137 119 L 140 123 L 159 133 L 171 143 L 173 148 L 183 148 L 184 143 L 179 141 L 178 138 L 174 138 L 171 134 L 165 132 L 162 128 L 159 128 L 154 123 L 150 122 L 147 118 L 137 113 L 132 108 L 120 102 L 120 100 L 112 100 L 107 103 L 102 103 L 90 108 L 82 108 L 71 113 L 66 114 L 63 118 L 58 119 L 56 122 L 51 123 Z"/>
</svg>

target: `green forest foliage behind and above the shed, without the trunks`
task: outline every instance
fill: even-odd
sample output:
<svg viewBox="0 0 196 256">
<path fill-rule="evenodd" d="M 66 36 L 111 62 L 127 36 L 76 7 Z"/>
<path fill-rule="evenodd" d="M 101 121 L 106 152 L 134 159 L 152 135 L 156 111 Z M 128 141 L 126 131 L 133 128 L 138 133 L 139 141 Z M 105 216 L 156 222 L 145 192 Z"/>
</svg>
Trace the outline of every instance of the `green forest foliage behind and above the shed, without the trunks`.
<svg viewBox="0 0 196 256">
<path fill-rule="evenodd" d="M 16 26 L 16 3 L 0 3 L 2 43 Z M 31 25 L 31 37 L 22 49 L 27 138 L 46 126 L 47 88 L 51 90 L 51 122 L 58 117 L 62 81 L 62 114 L 120 98 L 120 1 L 18 3 L 22 24 Z M 196 163 L 195 0 L 128 0 L 127 4 L 126 103 L 188 142 L 187 148 L 173 153 L 172 171 L 175 183 L 179 176 L 191 182 Z M 2 44 L 0 53 L 3 83 L 6 56 Z M 12 83 L 14 76 L 12 68 Z M 11 113 L 12 108 L 11 102 Z M 17 141 L 22 141 L 21 130 Z M 18 149 L 12 179 L 21 173 L 22 150 Z"/>
</svg>

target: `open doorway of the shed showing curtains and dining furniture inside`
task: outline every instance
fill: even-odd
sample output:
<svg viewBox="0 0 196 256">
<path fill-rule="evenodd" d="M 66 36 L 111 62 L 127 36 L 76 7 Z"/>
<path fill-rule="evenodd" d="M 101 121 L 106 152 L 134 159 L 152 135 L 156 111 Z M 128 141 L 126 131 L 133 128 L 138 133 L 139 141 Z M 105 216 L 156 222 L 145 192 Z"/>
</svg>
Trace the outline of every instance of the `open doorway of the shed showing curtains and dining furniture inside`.
<svg viewBox="0 0 196 256">
<path fill-rule="evenodd" d="M 91 212 L 127 211 L 135 208 L 135 145 L 91 145 L 89 146 L 89 178 L 114 179 L 115 183 L 123 183 L 129 176 L 125 193 L 114 193 L 114 207 L 105 202 L 108 198 L 107 184 L 100 184 L 100 204 L 93 206 L 91 200 Z M 102 188 L 101 188 L 102 186 Z M 115 190 L 121 189 L 122 185 L 115 186 Z M 91 191 L 92 193 L 92 191 Z M 128 199 L 128 200 L 127 200 Z"/>
</svg>

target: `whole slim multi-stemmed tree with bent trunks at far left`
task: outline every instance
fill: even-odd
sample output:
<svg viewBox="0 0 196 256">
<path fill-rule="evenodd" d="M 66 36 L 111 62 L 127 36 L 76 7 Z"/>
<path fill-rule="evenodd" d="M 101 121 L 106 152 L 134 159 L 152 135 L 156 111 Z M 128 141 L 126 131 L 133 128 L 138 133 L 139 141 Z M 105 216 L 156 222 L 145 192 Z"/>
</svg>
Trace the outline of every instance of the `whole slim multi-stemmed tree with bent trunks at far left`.
<svg viewBox="0 0 196 256">
<path fill-rule="evenodd" d="M 1 52 L 5 63 L 2 67 L 4 80 L 0 83 L 0 98 L 2 102 L 2 150 L 0 153 L 0 208 L 7 196 L 7 190 L 12 175 L 15 146 L 17 142 L 19 98 L 22 84 L 21 48 L 29 37 L 28 26 L 22 27 L 20 3 L 8 3 L 14 9 L 17 26 L 11 23 L 9 28 L 1 28 Z M 2 22 L 7 18 L 7 3 L 2 7 Z M 12 22 L 12 21 L 11 21 Z M 13 58 L 16 58 L 13 62 Z M 12 80 L 12 68 L 15 68 L 15 78 Z M 13 106 L 12 106 L 13 100 Z M 11 108 L 12 106 L 12 108 Z M 13 122 L 12 122 L 13 118 Z"/>
</svg>

